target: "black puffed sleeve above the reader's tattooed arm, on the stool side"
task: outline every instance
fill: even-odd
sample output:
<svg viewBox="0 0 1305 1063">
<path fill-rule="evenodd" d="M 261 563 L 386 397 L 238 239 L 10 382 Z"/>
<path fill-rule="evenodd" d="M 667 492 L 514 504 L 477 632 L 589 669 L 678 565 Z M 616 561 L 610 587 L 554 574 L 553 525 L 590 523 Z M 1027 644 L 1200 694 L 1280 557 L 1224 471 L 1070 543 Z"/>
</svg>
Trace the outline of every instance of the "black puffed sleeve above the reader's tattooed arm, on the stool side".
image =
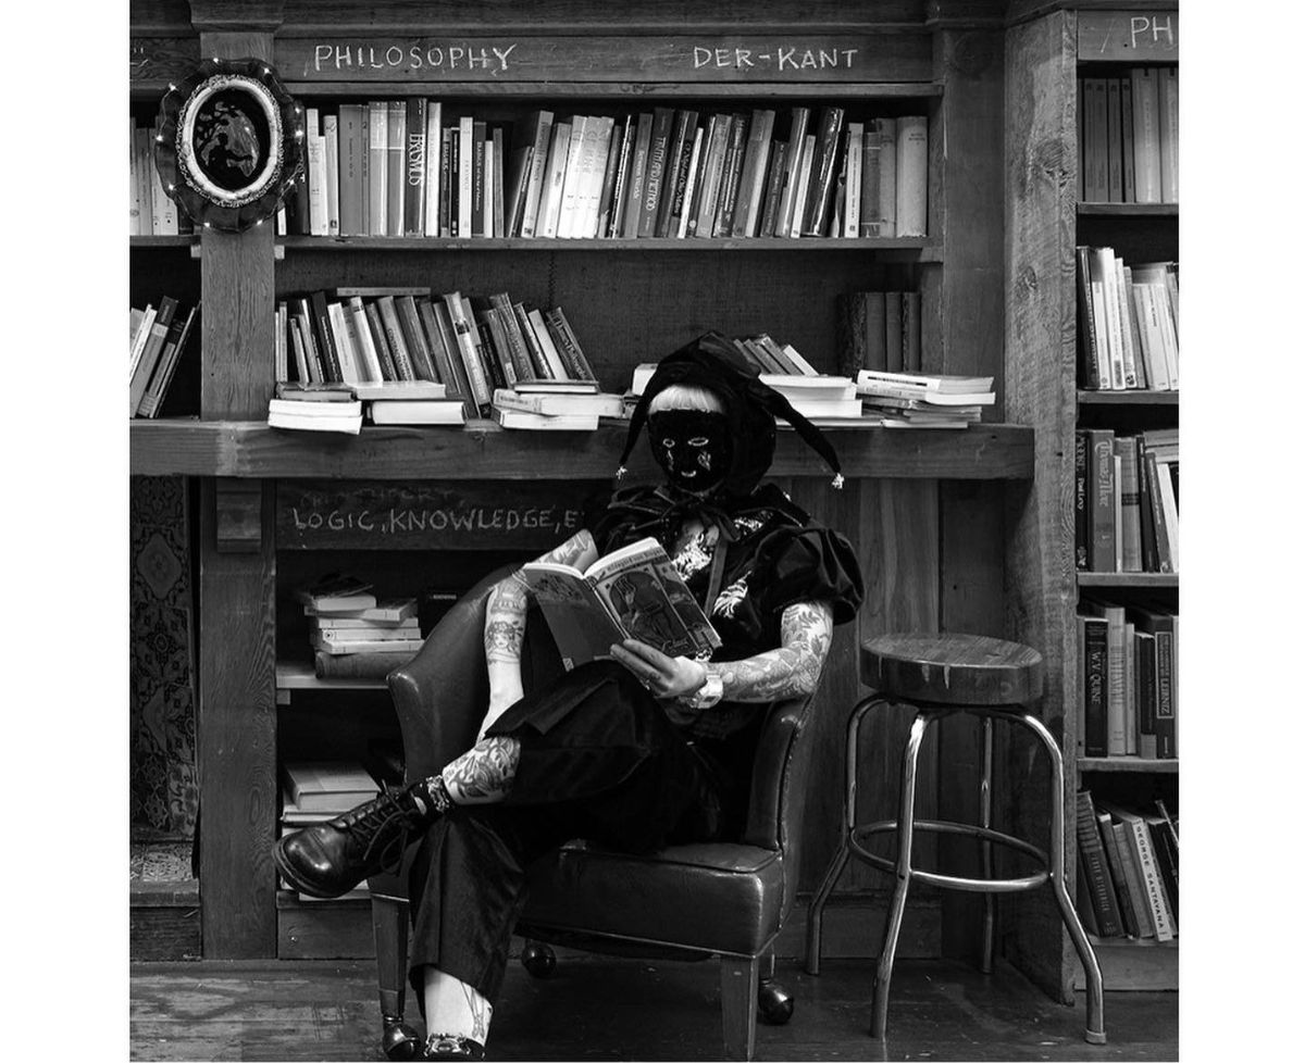
<svg viewBox="0 0 1305 1063">
<path fill-rule="evenodd" d="M 778 616 L 799 601 L 823 601 L 833 609 L 834 623 L 846 623 L 865 596 L 852 545 L 818 524 L 776 528 L 766 536 L 756 573 L 763 614 Z"/>
</svg>

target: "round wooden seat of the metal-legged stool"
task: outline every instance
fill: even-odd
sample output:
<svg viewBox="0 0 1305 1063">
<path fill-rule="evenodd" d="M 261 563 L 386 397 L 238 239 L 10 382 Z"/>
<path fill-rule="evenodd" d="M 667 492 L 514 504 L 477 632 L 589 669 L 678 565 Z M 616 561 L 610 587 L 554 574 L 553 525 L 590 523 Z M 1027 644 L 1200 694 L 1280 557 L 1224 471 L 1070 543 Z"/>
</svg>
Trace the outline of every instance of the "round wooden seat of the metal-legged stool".
<svg viewBox="0 0 1305 1063">
<path fill-rule="evenodd" d="M 1027 706 L 1043 694 L 1043 656 L 988 635 L 889 634 L 861 643 L 861 682 L 934 706 Z"/>
</svg>

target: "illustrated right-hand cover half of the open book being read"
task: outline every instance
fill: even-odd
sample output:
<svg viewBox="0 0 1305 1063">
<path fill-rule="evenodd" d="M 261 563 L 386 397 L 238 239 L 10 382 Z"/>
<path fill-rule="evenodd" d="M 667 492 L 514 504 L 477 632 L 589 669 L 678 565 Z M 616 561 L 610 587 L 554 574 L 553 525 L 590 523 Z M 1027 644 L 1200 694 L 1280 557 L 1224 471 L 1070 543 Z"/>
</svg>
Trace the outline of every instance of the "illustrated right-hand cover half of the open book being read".
<svg viewBox="0 0 1305 1063">
<path fill-rule="evenodd" d="M 671 657 L 710 653 L 720 644 L 719 635 L 655 539 L 641 539 L 599 558 L 585 576 L 630 638 Z"/>
</svg>

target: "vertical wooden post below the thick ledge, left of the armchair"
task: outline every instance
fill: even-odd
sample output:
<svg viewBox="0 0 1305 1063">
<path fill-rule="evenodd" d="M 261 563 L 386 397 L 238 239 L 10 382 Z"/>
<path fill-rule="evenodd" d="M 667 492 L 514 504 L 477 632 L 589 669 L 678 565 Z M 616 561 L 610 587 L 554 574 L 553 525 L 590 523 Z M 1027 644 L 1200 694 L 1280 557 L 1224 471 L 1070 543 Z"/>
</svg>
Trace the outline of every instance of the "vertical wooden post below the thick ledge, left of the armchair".
<svg viewBox="0 0 1305 1063">
<path fill-rule="evenodd" d="M 215 485 L 200 492 L 200 880 L 204 955 L 274 956 L 275 553 L 271 484 L 256 553 L 219 553 Z"/>
</svg>

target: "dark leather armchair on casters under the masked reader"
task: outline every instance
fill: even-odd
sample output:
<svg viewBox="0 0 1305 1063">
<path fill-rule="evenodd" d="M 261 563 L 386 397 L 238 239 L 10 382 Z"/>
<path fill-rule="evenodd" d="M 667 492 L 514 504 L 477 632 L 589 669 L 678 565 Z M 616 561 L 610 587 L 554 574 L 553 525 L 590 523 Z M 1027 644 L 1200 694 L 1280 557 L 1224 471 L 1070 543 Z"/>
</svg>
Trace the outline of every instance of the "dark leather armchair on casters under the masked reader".
<svg viewBox="0 0 1305 1063">
<path fill-rule="evenodd" d="M 408 781 L 433 775 L 468 749 L 489 689 L 484 666 L 484 608 L 493 573 L 463 596 L 420 652 L 389 676 L 403 736 Z M 561 666 L 538 610 L 531 610 L 523 678 Z M 776 704 L 762 729 L 746 830 L 739 843 L 671 845 L 632 856 L 583 841 L 564 845 L 531 869 L 517 933 L 594 952 L 705 960 L 720 957 L 724 1058 L 752 1059 L 761 1013 L 787 1021 L 788 995 L 770 981 L 773 946 L 797 890 L 803 805 L 810 742 L 800 741 L 810 699 Z M 371 879 L 384 1047 L 392 1059 L 418 1047 L 403 1024 L 407 985 L 406 863 L 397 875 Z M 769 959 L 767 977 L 762 961 Z M 544 976 L 553 957 L 529 944 L 522 961 Z"/>
</svg>

